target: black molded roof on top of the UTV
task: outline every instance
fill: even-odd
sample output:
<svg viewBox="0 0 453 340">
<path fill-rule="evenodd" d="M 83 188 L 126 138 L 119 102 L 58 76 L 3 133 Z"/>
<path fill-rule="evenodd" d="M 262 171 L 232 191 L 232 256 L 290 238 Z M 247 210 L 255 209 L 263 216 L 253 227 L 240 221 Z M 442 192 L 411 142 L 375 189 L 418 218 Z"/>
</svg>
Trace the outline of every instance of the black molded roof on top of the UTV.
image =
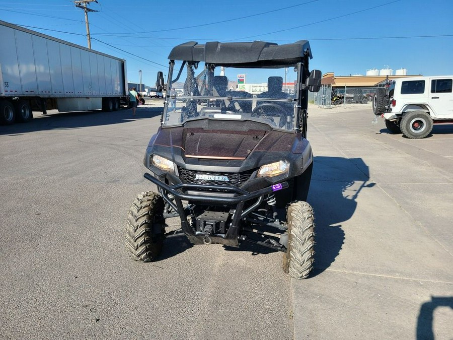
<svg viewBox="0 0 453 340">
<path fill-rule="evenodd" d="M 189 41 L 172 49 L 170 60 L 203 61 L 230 67 L 285 67 L 312 58 L 308 40 L 278 45 L 272 42 L 206 42 Z"/>
</svg>

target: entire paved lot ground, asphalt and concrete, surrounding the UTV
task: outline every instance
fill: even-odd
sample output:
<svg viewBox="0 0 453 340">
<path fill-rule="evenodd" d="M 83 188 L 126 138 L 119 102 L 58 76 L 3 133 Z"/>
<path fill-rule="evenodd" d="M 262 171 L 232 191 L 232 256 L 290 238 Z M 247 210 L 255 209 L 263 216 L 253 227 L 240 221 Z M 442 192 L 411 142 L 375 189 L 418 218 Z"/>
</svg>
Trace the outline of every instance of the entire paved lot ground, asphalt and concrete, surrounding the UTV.
<svg viewBox="0 0 453 340">
<path fill-rule="evenodd" d="M 251 245 L 128 257 L 162 100 L 0 126 L 0 338 L 453 338 L 453 125 L 409 140 L 368 105 L 310 109 L 316 262 L 300 281 Z"/>
</svg>

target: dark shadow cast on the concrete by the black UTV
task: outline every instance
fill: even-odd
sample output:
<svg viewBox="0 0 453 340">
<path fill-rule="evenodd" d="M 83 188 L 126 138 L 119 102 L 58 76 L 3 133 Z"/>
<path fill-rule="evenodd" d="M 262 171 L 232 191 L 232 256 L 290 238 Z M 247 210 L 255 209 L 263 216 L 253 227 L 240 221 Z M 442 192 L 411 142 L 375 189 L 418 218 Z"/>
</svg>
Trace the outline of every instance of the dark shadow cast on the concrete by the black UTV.
<svg viewBox="0 0 453 340">
<path fill-rule="evenodd" d="M 315 157 L 308 197 L 316 224 L 311 277 L 326 270 L 340 253 L 345 241 L 341 223 L 353 216 L 360 191 L 374 186 L 368 180 L 368 166 L 361 158 Z"/>
</svg>

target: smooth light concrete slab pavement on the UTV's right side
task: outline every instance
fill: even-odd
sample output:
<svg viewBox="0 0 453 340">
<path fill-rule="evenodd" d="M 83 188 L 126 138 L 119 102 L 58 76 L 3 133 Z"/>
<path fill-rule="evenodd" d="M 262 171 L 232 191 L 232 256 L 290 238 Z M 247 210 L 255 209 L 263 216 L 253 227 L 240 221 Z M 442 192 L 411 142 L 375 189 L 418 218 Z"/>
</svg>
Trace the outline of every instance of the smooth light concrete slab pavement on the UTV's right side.
<svg viewBox="0 0 453 340">
<path fill-rule="evenodd" d="M 296 339 L 453 339 L 453 125 L 423 140 L 368 105 L 312 107 L 315 270 Z"/>
</svg>

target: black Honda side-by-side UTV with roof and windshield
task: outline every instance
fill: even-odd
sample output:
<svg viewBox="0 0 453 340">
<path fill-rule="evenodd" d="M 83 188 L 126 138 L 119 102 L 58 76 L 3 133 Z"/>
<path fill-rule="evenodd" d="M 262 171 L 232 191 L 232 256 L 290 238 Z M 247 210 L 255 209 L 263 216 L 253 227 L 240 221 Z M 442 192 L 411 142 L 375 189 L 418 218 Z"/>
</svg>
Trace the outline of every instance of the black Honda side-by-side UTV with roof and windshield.
<svg viewBox="0 0 453 340">
<path fill-rule="evenodd" d="M 144 156 L 144 177 L 158 192 L 140 193 L 127 215 L 133 259 L 158 260 L 166 238 L 185 235 L 195 244 L 279 250 L 291 277 L 309 276 L 307 106 L 308 91 L 321 84 L 321 72 L 309 71 L 311 58 L 307 40 L 172 49 L 167 84 L 162 72 L 156 83 L 166 91 L 162 124 Z M 283 86 L 285 73 L 293 85 Z M 166 231 L 165 220 L 176 216 L 181 228 Z"/>
</svg>

